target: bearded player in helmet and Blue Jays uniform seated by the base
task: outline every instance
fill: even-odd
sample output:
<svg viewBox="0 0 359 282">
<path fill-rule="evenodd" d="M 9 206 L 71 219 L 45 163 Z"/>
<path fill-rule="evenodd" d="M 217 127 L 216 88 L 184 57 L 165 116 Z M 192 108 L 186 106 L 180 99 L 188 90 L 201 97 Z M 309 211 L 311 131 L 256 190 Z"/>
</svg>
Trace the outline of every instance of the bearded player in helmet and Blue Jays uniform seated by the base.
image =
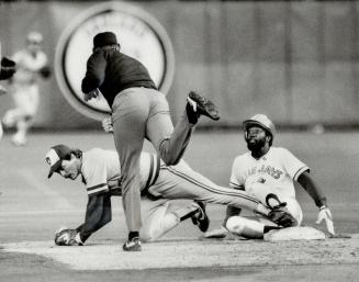
<svg viewBox="0 0 359 282">
<path fill-rule="evenodd" d="M 249 149 L 235 158 L 229 185 L 244 190 L 267 206 L 287 203 L 287 208 L 301 225 L 303 212 L 295 199 L 294 181 L 299 182 L 319 208 L 317 223 L 323 219 L 328 232 L 334 235 L 332 214 L 326 198 L 310 176 L 308 167 L 288 149 L 272 147 L 274 124 L 263 114 L 256 114 L 243 123 L 245 140 Z M 225 227 L 231 233 L 247 238 L 263 238 L 273 223 L 262 216 L 248 219 L 239 216 L 240 210 L 228 206 Z M 224 228 L 223 235 L 226 233 Z M 217 232 L 220 233 L 220 230 Z M 206 237 L 216 234 L 209 232 Z"/>
</svg>

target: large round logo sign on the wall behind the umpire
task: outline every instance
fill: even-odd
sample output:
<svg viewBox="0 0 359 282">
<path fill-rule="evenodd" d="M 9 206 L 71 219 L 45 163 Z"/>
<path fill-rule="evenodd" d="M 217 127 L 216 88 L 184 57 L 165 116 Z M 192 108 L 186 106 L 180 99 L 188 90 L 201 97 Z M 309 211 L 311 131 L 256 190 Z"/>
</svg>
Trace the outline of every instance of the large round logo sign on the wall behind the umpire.
<svg viewBox="0 0 359 282">
<path fill-rule="evenodd" d="M 94 5 L 76 18 L 63 32 L 56 46 L 55 74 L 66 100 L 82 114 L 102 120 L 110 113 L 103 97 L 83 100 L 81 81 L 93 36 L 113 32 L 121 52 L 146 66 L 152 79 L 167 93 L 173 79 L 175 55 L 165 29 L 144 10 L 117 2 Z"/>
</svg>

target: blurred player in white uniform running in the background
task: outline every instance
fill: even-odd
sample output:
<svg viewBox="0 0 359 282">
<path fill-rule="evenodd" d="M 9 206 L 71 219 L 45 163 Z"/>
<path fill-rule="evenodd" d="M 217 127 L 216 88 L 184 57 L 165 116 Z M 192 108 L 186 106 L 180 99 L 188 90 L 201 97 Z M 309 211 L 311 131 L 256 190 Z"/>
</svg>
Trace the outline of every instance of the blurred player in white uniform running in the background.
<svg viewBox="0 0 359 282">
<path fill-rule="evenodd" d="M 11 140 L 16 146 L 26 144 L 29 128 L 37 112 L 38 78 L 48 78 L 51 70 L 47 56 L 42 50 L 43 35 L 31 32 L 26 37 L 24 49 L 16 52 L 12 59 L 16 63 L 16 74 L 9 80 L 14 109 L 7 111 L 2 122 L 7 127 L 15 126 Z"/>
</svg>

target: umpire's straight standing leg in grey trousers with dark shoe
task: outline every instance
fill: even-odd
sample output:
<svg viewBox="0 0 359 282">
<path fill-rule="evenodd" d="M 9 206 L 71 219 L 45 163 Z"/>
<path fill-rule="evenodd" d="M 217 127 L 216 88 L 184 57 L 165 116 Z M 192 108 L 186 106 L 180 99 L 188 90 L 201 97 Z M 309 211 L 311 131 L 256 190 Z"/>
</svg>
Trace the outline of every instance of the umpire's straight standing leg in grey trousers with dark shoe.
<svg viewBox="0 0 359 282">
<path fill-rule="evenodd" d="M 121 162 L 122 202 L 130 230 L 124 249 L 141 250 L 138 240 L 142 226 L 139 156 L 149 112 L 148 103 L 144 95 L 130 89 L 117 94 L 112 110 L 113 137 Z"/>
</svg>

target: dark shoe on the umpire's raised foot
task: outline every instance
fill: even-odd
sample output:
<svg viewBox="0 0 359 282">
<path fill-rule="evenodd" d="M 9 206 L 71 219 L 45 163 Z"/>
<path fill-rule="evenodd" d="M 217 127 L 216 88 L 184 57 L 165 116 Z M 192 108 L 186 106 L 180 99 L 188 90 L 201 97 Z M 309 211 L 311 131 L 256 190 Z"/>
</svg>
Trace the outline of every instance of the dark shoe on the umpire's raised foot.
<svg viewBox="0 0 359 282">
<path fill-rule="evenodd" d="M 198 115 L 205 115 L 214 121 L 220 120 L 220 113 L 214 103 L 199 93 L 191 91 L 188 94 L 187 101 L 191 105 L 192 111 Z"/>
</svg>

